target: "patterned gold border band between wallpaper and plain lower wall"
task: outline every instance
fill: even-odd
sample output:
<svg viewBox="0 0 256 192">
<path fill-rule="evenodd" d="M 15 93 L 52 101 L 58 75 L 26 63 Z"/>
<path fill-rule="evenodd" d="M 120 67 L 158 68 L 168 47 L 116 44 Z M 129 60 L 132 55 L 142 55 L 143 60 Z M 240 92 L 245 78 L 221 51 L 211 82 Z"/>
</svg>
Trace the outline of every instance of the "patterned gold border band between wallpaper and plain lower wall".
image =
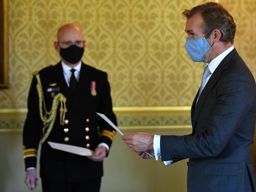
<svg viewBox="0 0 256 192">
<path fill-rule="evenodd" d="M 118 127 L 123 130 L 190 129 L 190 107 L 113 107 Z M 26 108 L 0 109 L 0 132 L 21 132 Z"/>
</svg>

